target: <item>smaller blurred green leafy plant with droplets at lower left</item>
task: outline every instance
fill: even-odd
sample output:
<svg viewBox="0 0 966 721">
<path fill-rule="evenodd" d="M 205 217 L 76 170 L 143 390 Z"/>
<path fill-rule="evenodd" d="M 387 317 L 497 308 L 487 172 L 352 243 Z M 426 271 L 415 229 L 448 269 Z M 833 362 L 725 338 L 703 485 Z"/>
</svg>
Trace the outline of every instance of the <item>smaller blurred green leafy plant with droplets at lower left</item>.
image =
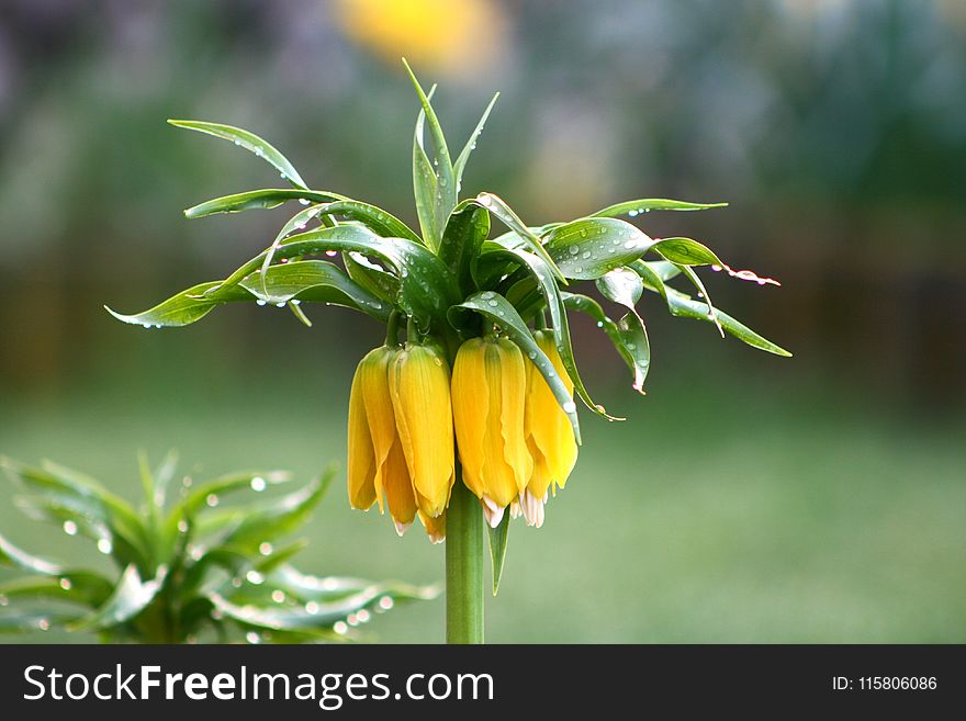
<svg viewBox="0 0 966 721">
<path fill-rule="evenodd" d="M 284 538 L 308 519 L 332 469 L 284 494 L 272 493 L 289 483 L 278 471 L 200 483 L 183 476 L 172 488 L 177 457 L 170 453 L 151 470 L 142 455 L 144 502 L 135 508 L 54 463 L 30 467 L 0 459 L 0 465 L 23 491 L 16 504 L 29 517 L 93 541 L 117 568 L 109 575 L 66 567 L 0 534 L 0 565 L 27 574 L 0 583 L 0 632 L 63 628 L 135 643 L 335 641 L 353 638 L 353 627 L 400 600 L 439 593 L 312 576 L 291 564 L 306 541 Z M 232 496 L 239 502 L 231 503 Z"/>
</svg>

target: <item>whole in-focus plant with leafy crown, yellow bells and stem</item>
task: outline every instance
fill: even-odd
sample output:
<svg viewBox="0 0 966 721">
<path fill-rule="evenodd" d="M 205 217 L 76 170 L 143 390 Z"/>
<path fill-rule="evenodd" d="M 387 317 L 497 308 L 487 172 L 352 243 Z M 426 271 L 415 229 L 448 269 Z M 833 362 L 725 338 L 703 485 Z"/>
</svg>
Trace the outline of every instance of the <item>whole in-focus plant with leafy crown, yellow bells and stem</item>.
<svg viewBox="0 0 966 721">
<path fill-rule="evenodd" d="M 207 201 L 186 211 L 189 217 L 290 201 L 304 207 L 226 279 L 189 288 L 144 313 L 114 315 L 145 328 L 183 326 L 216 306 L 252 301 L 288 307 L 311 325 L 305 304 L 324 303 L 389 324 L 386 345 L 362 359 L 352 381 L 349 502 L 387 508 L 400 533 L 418 516 L 430 540 L 447 539 L 447 638 L 480 642 L 484 518 L 495 593 L 510 517 L 540 527 L 548 498 L 574 470 L 576 401 L 617 420 L 592 399 L 577 371 L 571 314 L 596 322 L 641 394 L 651 363 L 637 309 L 644 291 L 672 315 L 714 324 L 722 336 L 770 353 L 789 353 L 718 311 L 696 269 L 759 285 L 775 281 L 732 270 L 697 240 L 652 238 L 624 219 L 724 203 L 645 198 L 531 226 L 492 193 L 460 200 L 467 161 L 493 103 L 454 157 L 430 103 L 433 90 L 424 92 L 411 78 L 422 106 L 413 139 L 418 232 L 363 201 L 311 190 L 288 158 L 247 131 L 170 121 L 233 140 L 291 185 Z M 506 230 L 492 233 L 494 221 Z M 598 297 L 581 292 L 577 284 L 587 281 Z M 676 288 L 679 281 L 695 295 Z M 395 330 L 402 322 L 404 346 Z"/>
</svg>

